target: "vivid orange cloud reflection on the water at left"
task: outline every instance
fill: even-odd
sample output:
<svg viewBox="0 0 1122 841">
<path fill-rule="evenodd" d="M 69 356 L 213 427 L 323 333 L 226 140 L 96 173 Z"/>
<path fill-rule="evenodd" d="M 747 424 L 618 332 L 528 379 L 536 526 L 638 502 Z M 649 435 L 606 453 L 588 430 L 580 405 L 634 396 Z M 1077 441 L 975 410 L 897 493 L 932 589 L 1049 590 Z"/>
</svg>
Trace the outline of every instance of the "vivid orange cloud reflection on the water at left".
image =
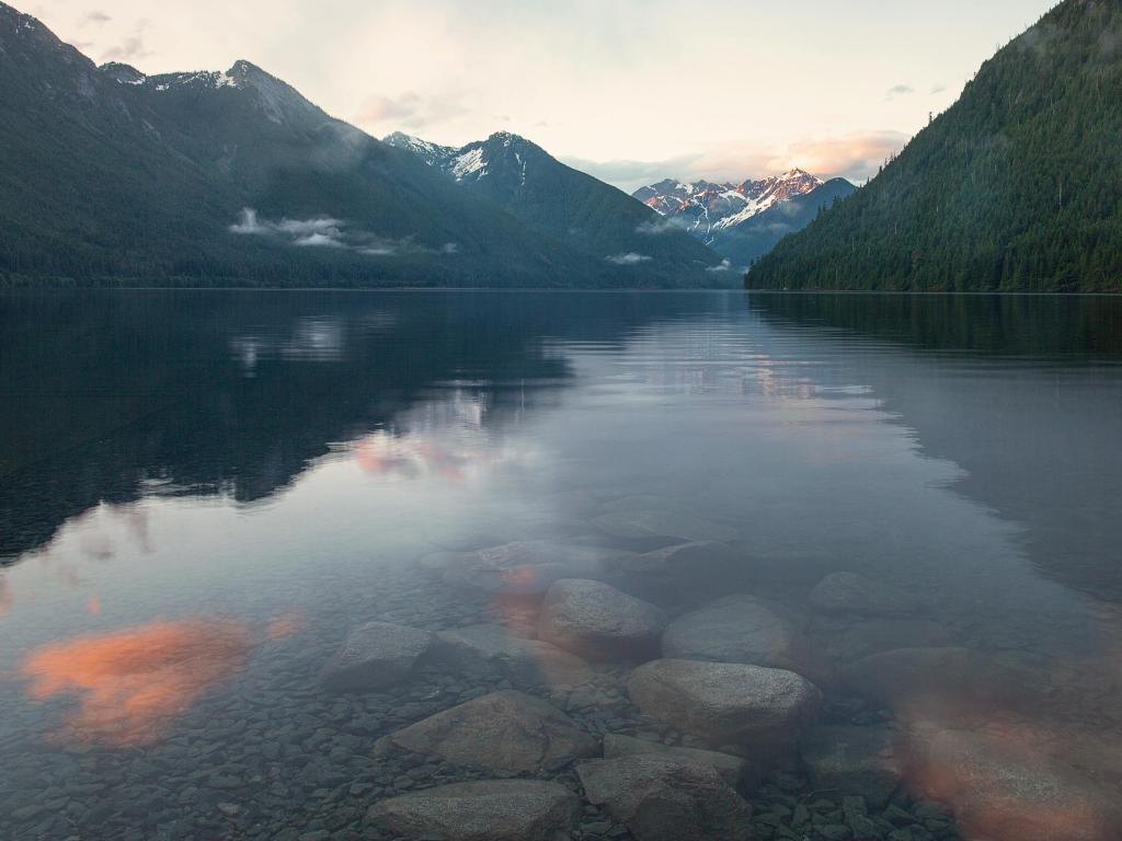
<svg viewBox="0 0 1122 841">
<path fill-rule="evenodd" d="M 157 621 L 43 646 L 22 673 L 34 699 L 79 696 L 59 736 L 145 745 L 208 687 L 240 672 L 249 647 L 242 622 Z"/>
</svg>

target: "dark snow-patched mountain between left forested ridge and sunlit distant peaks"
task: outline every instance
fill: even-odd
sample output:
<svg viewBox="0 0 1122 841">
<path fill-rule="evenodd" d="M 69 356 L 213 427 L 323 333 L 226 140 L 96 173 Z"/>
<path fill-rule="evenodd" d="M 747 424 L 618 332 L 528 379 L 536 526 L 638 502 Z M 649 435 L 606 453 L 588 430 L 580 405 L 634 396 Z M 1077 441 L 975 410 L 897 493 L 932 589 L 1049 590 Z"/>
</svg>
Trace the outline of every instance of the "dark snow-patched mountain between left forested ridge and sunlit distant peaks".
<svg viewBox="0 0 1122 841">
<path fill-rule="evenodd" d="M 401 132 L 385 142 L 407 149 L 450 183 L 496 203 L 531 230 L 617 267 L 644 267 L 668 280 L 723 268 L 703 244 L 626 193 L 565 166 L 524 137 L 500 131 L 459 149 Z"/>
</svg>

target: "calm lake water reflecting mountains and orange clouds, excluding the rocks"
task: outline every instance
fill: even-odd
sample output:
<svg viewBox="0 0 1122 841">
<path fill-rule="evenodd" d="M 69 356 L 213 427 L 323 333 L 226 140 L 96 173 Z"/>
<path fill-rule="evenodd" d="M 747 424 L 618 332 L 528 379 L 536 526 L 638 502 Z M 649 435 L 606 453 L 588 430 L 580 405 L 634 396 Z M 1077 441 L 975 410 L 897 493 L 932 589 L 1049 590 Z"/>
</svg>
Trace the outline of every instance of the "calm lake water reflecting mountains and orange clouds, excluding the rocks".
<svg viewBox="0 0 1122 841">
<path fill-rule="evenodd" d="M 895 808 L 1119 838 L 1120 433 L 1122 299 L 2 296 L 0 838 L 392 838 L 371 804 L 490 775 L 375 742 L 511 685 L 594 734 L 700 745 L 628 701 L 628 660 L 592 688 L 321 681 L 370 620 L 532 636 L 537 602 L 473 580 L 477 549 L 697 539 L 734 562 L 604 577 L 687 625 L 766 606 L 760 665 L 905 743 Z M 812 595 L 838 572 L 867 589 Z M 779 765 L 745 788 L 755 837 L 826 837 L 783 812 L 824 796 L 794 749 Z M 587 805 L 576 833 L 628 838 Z"/>
</svg>

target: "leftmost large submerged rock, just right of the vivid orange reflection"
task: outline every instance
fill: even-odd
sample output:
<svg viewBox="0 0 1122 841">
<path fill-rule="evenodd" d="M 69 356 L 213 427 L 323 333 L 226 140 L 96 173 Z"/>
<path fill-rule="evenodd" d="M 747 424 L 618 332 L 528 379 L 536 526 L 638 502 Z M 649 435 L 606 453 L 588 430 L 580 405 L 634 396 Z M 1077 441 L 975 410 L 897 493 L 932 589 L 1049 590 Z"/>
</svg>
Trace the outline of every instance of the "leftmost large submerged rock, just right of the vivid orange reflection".
<svg viewBox="0 0 1122 841">
<path fill-rule="evenodd" d="M 373 692 L 410 677 L 429 650 L 429 631 L 390 622 L 367 622 L 352 630 L 323 669 L 323 685 L 334 692 Z"/>
</svg>

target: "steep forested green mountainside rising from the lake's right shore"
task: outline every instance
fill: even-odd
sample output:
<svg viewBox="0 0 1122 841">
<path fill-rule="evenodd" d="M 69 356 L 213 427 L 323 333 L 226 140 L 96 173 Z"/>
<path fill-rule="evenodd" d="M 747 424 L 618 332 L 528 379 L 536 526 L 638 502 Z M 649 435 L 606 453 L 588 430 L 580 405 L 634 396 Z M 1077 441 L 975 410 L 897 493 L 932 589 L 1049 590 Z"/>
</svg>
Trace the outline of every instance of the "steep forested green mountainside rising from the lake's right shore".
<svg viewBox="0 0 1122 841">
<path fill-rule="evenodd" d="M 1065 0 L 756 288 L 1122 292 L 1122 2 Z"/>
</svg>

